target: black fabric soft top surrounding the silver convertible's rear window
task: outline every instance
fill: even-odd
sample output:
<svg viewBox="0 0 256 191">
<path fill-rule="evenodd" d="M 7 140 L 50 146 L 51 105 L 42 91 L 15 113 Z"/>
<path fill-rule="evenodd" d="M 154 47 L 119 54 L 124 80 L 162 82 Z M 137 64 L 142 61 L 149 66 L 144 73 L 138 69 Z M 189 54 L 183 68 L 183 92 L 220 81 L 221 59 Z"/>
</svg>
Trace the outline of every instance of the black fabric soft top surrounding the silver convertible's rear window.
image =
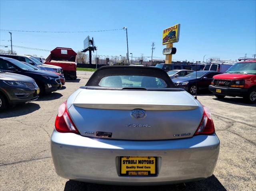
<svg viewBox="0 0 256 191">
<path fill-rule="evenodd" d="M 165 81 L 167 88 L 175 88 L 168 74 L 162 69 L 146 66 L 103 66 L 96 70 L 90 77 L 86 86 L 99 86 L 99 82 L 106 76 L 134 75 L 151 76 Z"/>
</svg>

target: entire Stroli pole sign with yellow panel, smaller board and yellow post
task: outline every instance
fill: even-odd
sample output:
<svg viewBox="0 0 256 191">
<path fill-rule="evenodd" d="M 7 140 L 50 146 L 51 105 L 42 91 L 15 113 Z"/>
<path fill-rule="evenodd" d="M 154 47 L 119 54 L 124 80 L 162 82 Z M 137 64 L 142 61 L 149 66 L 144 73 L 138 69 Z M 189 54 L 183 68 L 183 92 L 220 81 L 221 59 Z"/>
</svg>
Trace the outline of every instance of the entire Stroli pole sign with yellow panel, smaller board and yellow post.
<svg viewBox="0 0 256 191">
<path fill-rule="evenodd" d="M 176 24 L 163 30 L 162 45 L 166 45 L 163 50 L 165 57 L 165 63 L 172 63 L 172 54 L 176 53 L 176 48 L 173 47 L 173 43 L 178 42 L 180 39 L 180 24 Z"/>
</svg>

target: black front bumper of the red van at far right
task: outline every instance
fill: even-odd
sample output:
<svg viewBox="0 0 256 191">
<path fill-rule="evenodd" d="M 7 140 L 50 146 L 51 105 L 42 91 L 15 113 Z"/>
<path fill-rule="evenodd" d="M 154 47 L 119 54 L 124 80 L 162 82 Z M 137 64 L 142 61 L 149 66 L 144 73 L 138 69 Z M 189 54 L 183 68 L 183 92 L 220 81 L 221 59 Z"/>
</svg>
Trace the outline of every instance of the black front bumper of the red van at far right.
<svg viewBox="0 0 256 191">
<path fill-rule="evenodd" d="M 217 93 L 216 89 L 220 89 L 221 93 Z M 248 89 L 243 88 L 224 88 L 224 87 L 216 87 L 213 85 L 209 85 L 209 90 L 216 95 L 225 95 L 225 96 L 240 96 L 243 97 L 247 94 Z"/>
</svg>

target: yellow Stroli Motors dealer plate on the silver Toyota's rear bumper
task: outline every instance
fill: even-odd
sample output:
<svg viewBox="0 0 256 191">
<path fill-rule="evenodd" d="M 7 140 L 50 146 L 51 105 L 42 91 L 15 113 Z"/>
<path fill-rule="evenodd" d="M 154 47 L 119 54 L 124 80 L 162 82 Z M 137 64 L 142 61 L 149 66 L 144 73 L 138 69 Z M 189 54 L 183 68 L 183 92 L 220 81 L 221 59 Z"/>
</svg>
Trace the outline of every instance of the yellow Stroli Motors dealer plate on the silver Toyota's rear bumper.
<svg viewBox="0 0 256 191">
<path fill-rule="evenodd" d="M 120 157 L 121 176 L 156 176 L 157 157 Z"/>
</svg>

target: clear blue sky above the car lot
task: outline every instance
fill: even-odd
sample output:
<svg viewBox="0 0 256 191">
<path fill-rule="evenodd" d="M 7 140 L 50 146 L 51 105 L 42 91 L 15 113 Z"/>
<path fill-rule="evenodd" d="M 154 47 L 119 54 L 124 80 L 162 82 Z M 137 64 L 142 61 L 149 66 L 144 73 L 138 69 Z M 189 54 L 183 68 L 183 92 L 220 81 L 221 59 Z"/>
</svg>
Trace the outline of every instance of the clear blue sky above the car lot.
<svg viewBox="0 0 256 191">
<path fill-rule="evenodd" d="M 128 28 L 133 57 L 163 57 L 162 30 L 180 23 L 180 41 L 173 59 L 202 61 L 210 57 L 237 59 L 256 53 L 256 1 L 5 1 L 0 0 L 1 30 L 94 31 Z M 98 55 L 126 55 L 124 30 L 89 33 L 12 32 L 13 45 L 52 50 L 83 49 L 94 37 Z M 0 31 L 0 45 L 10 44 Z M 0 49 L 10 49 L 0 47 Z M 48 52 L 14 48 L 19 54 Z"/>
</svg>

